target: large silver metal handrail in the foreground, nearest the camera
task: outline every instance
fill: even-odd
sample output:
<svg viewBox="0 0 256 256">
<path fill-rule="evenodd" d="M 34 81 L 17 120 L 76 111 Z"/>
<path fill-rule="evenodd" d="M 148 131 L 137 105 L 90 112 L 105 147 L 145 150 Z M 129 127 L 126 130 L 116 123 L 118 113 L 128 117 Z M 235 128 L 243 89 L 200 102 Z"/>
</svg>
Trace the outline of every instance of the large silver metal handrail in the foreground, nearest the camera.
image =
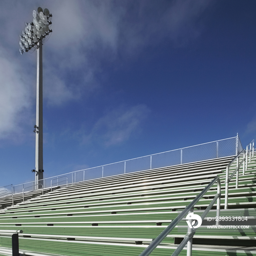
<svg viewBox="0 0 256 256">
<path fill-rule="evenodd" d="M 174 227 L 176 227 L 176 225 L 180 222 L 180 220 L 183 219 L 183 217 L 189 213 L 189 211 L 194 208 L 194 206 L 196 205 L 196 203 L 204 196 L 204 194 L 212 187 L 212 185 L 214 185 L 217 182 L 217 194 L 214 197 L 214 199 L 211 201 L 211 203 L 209 204 L 209 206 L 205 209 L 205 211 L 203 212 L 201 218 L 202 220 L 205 218 L 205 216 L 207 215 L 207 213 L 209 212 L 209 210 L 211 209 L 211 207 L 214 205 L 214 203 L 217 200 L 217 213 L 216 216 L 219 217 L 220 216 L 220 196 L 221 196 L 221 191 L 220 191 L 220 178 L 218 176 L 216 176 L 206 187 L 205 189 L 203 189 L 203 191 L 196 196 L 196 198 L 171 222 L 171 224 L 165 228 L 165 230 L 139 255 L 139 256 L 148 256 L 149 254 L 151 254 L 151 252 L 153 252 L 153 250 L 165 239 L 165 237 L 171 232 L 172 229 L 174 229 Z M 219 218 L 216 218 L 217 220 Z M 218 225 L 218 221 L 216 222 L 216 225 Z M 196 232 L 196 229 L 194 229 L 194 232 Z M 194 234 L 188 234 L 189 239 L 191 239 Z M 185 236 L 186 238 L 187 236 Z M 185 240 L 187 241 L 188 238 L 186 238 Z M 185 242 L 184 242 L 185 243 Z M 182 243 L 182 246 L 184 247 L 186 245 L 186 243 L 184 244 Z M 184 244 L 184 245 L 183 245 Z M 177 249 L 179 248 L 179 250 L 181 251 L 183 249 L 183 247 L 177 247 Z M 182 247 L 182 248 L 181 248 Z M 176 249 L 176 250 L 177 250 Z M 174 252 L 175 253 L 175 252 Z M 179 253 L 179 252 L 178 252 Z M 174 255 L 178 255 L 178 254 L 172 254 L 172 256 Z"/>
</svg>

